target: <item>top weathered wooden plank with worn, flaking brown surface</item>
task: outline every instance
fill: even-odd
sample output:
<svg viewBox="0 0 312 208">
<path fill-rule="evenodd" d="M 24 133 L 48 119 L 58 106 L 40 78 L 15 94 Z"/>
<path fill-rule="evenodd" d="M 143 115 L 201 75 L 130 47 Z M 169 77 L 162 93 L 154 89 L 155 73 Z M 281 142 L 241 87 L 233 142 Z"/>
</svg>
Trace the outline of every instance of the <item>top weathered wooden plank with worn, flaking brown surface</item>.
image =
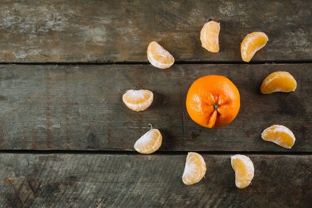
<svg viewBox="0 0 312 208">
<path fill-rule="evenodd" d="M 269 36 L 252 61 L 312 60 L 311 0 L 53 0 L 0 2 L 0 62 L 148 61 L 156 40 L 176 61 L 241 61 L 253 31 Z M 201 47 L 209 19 L 221 23 L 220 52 Z"/>
</svg>

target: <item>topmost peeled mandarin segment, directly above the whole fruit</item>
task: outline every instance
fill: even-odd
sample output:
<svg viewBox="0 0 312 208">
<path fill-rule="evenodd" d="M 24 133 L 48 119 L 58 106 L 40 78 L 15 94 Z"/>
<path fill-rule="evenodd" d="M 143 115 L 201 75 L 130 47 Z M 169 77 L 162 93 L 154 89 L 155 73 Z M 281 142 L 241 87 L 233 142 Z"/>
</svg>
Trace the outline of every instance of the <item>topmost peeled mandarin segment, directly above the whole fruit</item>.
<svg viewBox="0 0 312 208">
<path fill-rule="evenodd" d="M 219 33 L 219 22 L 208 21 L 205 23 L 200 31 L 201 46 L 212 53 L 219 52 Z"/>
</svg>

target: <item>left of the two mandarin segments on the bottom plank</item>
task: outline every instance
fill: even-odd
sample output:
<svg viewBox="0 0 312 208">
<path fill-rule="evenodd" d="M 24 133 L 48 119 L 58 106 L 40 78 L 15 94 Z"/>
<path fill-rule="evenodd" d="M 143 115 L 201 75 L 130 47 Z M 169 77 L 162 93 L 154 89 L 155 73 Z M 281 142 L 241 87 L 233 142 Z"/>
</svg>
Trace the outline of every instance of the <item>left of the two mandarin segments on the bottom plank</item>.
<svg viewBox="0 0 312 208">
<path fill-rule="evenodd" d="M 182 181 L 186 185 L 198 183 L 206 174 L 206 164 L 201 155 L 189 152 L 186 157 Z"/>
</svg>

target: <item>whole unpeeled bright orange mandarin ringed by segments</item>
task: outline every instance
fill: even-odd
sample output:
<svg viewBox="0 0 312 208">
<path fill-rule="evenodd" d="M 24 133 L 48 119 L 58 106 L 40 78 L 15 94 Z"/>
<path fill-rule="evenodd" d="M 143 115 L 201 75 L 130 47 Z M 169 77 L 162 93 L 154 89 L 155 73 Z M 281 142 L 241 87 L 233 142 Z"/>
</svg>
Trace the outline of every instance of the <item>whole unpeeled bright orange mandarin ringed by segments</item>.
<svg viewBox="0 0 312 208">
<path fill-rule="evenodd" d="M 239 91 L 225 76 L 200 77 L 188 89 L 187 113 L 195 123 L 203 127 L 222 127 L 231 123 L 239 108 Z"/>
</svg>

